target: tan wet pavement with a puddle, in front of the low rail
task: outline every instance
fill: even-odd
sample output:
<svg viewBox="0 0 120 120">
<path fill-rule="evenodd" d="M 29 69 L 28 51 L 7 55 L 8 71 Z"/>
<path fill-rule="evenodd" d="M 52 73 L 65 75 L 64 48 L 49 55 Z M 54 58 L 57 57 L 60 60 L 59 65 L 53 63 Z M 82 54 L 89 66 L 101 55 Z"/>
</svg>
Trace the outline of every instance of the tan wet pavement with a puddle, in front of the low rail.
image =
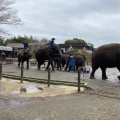
<svg viewBox="0 0 120 120">
<path fill-rule="evenodd" d="M 76 87 L 58 86 L 27 82 L 20 83 L 19 80 L 2 78 L 0 81 L 0 94 L 20 97 L 46 97 L 76 93 Z"/>
</svg>

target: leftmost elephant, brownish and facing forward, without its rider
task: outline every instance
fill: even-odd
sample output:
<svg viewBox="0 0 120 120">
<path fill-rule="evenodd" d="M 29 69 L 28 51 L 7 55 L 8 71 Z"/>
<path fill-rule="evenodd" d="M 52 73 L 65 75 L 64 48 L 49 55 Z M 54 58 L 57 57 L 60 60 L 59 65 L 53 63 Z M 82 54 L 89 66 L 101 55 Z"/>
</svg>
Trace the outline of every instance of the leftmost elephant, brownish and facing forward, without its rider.
<svg viewBox="0 0 120 120">
<path fill-rule="evenodd" d="M 18 67 L 20 66 L 20 63 L 21 65 L 23 65 L 23 63 L 26 61 L 26 69 L 29 69 L 29 59 L 32 57 L 32 52 L 30 51 L 30 49 L 22 49 L 18 51 L 17 57 Z"/>
</svg>

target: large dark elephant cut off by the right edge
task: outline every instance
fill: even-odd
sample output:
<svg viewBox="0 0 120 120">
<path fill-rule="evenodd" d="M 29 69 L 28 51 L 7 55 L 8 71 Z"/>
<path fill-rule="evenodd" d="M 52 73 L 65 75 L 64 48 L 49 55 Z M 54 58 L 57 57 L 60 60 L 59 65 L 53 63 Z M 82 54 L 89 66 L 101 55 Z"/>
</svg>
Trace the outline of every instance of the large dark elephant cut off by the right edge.
<svg viewBox="0 0 120 120">
<path fill-rule="evenodd" d="M 106 68 L 116 67 L 120 71 L 120 44 L 111 43 L 98 47 L 92 53 L 92 72 L 90 79 L 94 79 L 95 71 L 100 67 L 102 79 L 107 79 Z M 120 76 L 118 76 L 120 80 Z"/>
</svg>

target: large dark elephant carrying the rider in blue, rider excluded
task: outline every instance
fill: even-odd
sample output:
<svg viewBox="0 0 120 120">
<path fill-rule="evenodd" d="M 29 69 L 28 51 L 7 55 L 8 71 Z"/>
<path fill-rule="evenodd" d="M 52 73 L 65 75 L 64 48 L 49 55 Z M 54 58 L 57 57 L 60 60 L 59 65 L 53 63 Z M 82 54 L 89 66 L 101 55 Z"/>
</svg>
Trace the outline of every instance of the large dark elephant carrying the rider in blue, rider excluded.
<svg viewBox="0 0 120 120">
<path fill-rule="evenodd" d="M 53 65 L 53 58 L 54 57 L 60 57 L 60 49 L 58 46 L 43 46 L 35 50 L 35 57 L 38 62 L 38 69 L 40 70 L 40 66 L 44 64 L 45 60 L 48 60 L 48 65 L 46 67 L 46 70 L 51 65 L 52 71 L 54 71 L 54 65 Z"/>
</svg>

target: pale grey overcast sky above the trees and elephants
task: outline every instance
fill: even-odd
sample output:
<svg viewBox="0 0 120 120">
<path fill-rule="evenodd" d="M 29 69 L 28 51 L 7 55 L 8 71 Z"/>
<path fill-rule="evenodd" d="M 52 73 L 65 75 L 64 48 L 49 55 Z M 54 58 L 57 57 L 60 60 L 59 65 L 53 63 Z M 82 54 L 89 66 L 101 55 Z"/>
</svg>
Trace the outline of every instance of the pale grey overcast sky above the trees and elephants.
<svg viewBox="0 0 120 120">
<path fill-rule="evenodd" d="M 16 0 L 12 7 L 24 25 L 8 28 L 9 37 L 79 38 L 94 47 L 120 43 L 120 0 Z"/>
</svg>

